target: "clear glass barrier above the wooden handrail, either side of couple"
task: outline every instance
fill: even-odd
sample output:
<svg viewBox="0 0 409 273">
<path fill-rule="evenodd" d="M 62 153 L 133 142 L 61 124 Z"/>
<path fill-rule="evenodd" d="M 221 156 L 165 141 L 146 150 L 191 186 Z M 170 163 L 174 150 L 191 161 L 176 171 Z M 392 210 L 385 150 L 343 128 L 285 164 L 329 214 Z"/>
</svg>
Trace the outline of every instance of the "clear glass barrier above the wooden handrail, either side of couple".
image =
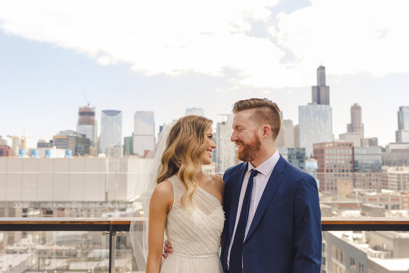
<svg viewBox="0 0 409 273">
<path fill-rule="evenodd" d="M 311 173 L 323 217 L 409 216 L 409 175 L 397 179 L 343 167 Z M 0 217 L 141 216 L 147 195 L 147 175 L 138 172 L 27 171 L 0 177 L 7 192 L 0 195 Z"/>
</svg>

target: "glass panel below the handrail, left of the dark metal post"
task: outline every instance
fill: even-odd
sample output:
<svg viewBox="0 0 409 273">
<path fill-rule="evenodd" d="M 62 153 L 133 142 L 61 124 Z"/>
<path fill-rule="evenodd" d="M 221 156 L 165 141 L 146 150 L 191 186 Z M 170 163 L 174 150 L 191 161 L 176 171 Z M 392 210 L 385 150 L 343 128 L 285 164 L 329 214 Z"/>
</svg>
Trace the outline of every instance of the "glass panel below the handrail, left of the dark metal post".
<svg viewBox="0 0 409 273">
<path fill-rule="evenodd" d="M 96 231 L 0 232 L 0 272 L 109 271 L 109 236 Z"/>
</svg>

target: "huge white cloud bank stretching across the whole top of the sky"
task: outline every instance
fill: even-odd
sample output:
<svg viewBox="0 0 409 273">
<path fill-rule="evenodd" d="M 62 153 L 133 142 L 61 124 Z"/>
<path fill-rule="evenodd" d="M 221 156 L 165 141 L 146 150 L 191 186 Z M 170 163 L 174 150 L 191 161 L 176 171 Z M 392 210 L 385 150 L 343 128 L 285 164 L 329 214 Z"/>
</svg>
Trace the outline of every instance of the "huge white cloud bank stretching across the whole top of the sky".
<svg viewBox="0 0 409 273">
<path fill-rule="evenodd" d="M 230 68 L 238 71 L 236 86 L 312 85 L 321 61 L 333 74 L 409 72 L 407 1 L 312 0 L 268 25 L 268 7 L 277 3 L 10 1 L 0 3 L 0 29 L 146 75 L 222 75 Z M 260 20 L 270 38 L 245 34 Z"/>
</svg>

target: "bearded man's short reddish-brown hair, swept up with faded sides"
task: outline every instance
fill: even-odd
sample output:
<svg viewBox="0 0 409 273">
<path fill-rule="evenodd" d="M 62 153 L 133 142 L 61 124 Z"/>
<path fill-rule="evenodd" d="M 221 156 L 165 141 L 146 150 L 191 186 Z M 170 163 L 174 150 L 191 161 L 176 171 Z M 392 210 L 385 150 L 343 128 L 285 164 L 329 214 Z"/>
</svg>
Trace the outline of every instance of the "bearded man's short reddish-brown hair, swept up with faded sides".
<svg viewBox="0 0 409 273">
<path fill-rule="evenodd" d="M 258 124 L 270 125 L 271 135 L 273 136 L 273 139 L 276 140 L 281 129 L 280 109 L 277 104 L 266 98 L 239 100 L 234 103 L 232 112 L 235 114 L 240 111 L 251 109 L 254 109 L 254 112 L 250 119 Z"/>
</svg>

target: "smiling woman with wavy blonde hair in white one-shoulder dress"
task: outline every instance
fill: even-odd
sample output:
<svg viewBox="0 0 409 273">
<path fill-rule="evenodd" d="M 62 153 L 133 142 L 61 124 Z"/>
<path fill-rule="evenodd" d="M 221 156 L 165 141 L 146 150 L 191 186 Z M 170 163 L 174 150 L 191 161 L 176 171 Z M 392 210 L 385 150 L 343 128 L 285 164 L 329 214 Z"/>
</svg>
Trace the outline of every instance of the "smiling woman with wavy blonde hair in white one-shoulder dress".
<svg viewBox="0 0 409 273">
<path fill-rule="evenodd" d="M 221 273 L 224 182 L 202 171 L 210 164 L 212 121 L 180 118 L 167 137 L 149 205 L 146 273 Z M 164 233 L 173 253 L 162 259 Z"/>
</svg>

